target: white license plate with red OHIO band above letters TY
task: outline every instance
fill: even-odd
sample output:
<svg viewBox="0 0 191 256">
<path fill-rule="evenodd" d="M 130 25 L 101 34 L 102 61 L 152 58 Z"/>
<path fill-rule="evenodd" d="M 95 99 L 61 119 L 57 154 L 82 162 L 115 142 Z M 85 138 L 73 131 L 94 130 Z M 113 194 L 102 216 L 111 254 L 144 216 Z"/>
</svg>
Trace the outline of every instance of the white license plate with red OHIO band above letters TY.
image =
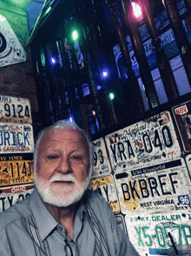
<svg viewBox="0 0 191 256">
<path fill-rule="evenodd" d="M 34 189 L 34 185 L 20 185 L 1 188 L 0 212 L 4 212 L 10 206 L 26 199 Z"/>
</svg>

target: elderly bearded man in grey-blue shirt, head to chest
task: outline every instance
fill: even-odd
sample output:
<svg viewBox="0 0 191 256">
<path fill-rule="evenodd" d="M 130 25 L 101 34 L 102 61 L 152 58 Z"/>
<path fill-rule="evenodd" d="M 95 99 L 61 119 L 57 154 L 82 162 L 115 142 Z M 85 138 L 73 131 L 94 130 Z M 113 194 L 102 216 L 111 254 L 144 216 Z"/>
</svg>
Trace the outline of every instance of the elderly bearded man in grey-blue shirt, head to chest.
<svg viewBox="0 0 191 256">
<path fill-rule="evenodd" d="M 37 138 L 36 188 L 0 214 L 3 256 L 136 256 L 105 199 L 87 191 L 92 147 L 77 125 L 59 121 Z"/>
</svg>

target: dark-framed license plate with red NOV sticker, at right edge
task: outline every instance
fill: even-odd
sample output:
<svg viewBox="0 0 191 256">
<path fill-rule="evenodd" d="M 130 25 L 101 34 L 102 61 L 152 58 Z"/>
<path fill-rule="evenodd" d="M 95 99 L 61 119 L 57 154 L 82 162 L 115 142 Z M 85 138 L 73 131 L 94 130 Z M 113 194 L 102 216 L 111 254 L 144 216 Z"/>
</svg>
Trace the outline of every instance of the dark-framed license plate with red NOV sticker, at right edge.
<svg viewBox="0 0 191 256">
<path fill-rule="evenodd" d="M 185 152 L 191 152 L 191 100 L 172 108 Z"/>
</svg>

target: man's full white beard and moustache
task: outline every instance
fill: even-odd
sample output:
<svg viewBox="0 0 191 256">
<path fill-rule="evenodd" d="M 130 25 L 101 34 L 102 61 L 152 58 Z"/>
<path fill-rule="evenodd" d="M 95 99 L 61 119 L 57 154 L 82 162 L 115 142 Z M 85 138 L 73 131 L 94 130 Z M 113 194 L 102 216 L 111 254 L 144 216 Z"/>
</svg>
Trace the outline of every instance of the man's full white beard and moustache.
<svg viewBox="0 0 191 256">
<path fill-rule="evenodd" d="M 36 174 L 36 168 L 34 172 L 34 179 L 37 191 L 42 197 L 45 203 L 50 205 L 56 205 L 58 207 L 67 207 L 73 205 L 82 199 L 83 193 L 87 190 L 91 179 L 91 172 L 82 185 L 79 185 L 77 180 L 69 173 L 62 174 L 57 172 L 49 181 L 41 179 Z M 60 188 L 60 185 L 56 185 L 53 181 L 72 181 L 74 184 L 68 185 L 68 187 Z"/>
</svg>

